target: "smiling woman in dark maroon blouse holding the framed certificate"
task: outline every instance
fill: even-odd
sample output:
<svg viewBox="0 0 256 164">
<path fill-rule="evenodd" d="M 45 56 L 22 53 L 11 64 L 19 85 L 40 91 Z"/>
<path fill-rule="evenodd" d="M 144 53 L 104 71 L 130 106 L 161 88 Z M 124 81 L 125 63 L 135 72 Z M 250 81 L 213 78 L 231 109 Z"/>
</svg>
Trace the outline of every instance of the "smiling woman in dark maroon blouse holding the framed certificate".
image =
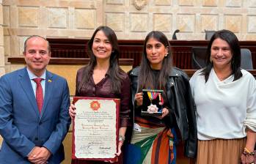
<svg viewBox="0 0 256 164">
<path fill-rule="evenodd" d="M 120 99 L 120 129 L 117 157 L 125 141 L 125 131 L 130 121 L 130 80 L 118 66 L 120 50 L 117 36 L 108 26 L 100 26 L 88 42 L 89 64 L 78 70 L 76 75 L 77 97 L 103 97 Z M 70 105 L 70 117 L 76 116 L 76 107 Z M 117 158 L 118 159 L 118 158 Z M 114 161 L 73 160 L 72 163 L 106 163 Z M 117 163 L 122 163 L 122 158 Z"/>
</svg>

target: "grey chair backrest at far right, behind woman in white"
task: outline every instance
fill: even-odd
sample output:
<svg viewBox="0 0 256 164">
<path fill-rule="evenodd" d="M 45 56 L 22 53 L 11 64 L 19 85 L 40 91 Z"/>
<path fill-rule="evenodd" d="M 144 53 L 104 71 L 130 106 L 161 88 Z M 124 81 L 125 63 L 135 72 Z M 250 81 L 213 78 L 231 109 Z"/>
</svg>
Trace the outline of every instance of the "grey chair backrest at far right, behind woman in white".
<svg viewBox="0 0 256 164">
<path fill-rule="evenodd" d="M 248 48 L 241 48 L 241 68 L 253 70 L 252 53 Z"/>
</svg>

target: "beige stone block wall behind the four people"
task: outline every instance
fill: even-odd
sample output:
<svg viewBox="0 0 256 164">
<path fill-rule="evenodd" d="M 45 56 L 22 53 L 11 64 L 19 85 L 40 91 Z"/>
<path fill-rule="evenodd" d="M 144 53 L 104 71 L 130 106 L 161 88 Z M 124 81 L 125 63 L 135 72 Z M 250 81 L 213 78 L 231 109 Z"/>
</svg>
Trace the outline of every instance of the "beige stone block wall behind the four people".
<svg viewBox="0 0 256 164">
<path fill-rule="evenodd" d="M 5 72 L 10 72 L 7 58 L 21 56 L 23 42 L 32 34 L 89 38 L 95 28 L 107 25 L 120 40 L 143 40 L 152 30 L 164 31 L 171 39 L 175 29 L 180 29 L 179 40 L 203 40 L 205 29 L 230 29 L 240 40 L 256 39 L 256 1 L 251 0 L 3 0 L 2 4 L 0 75 L 4 55 Z"/>
</svg>

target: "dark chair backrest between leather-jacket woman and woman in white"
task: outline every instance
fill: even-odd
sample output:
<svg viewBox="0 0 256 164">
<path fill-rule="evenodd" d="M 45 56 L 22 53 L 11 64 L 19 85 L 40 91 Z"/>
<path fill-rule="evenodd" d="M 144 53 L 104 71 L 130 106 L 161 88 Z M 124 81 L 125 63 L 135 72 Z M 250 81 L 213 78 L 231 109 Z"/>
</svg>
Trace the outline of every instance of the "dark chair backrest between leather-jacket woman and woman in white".
<svg viewBox="0 0 256 164">
<path fill-rule="evenodd" d="M 206 51 L 207 51 L 207 47 L 192 48 L 192 60 L 191 60 L 192 69 L 201 69 L 206 66 L 206 62 L 207 62 Z"/>
</svg>

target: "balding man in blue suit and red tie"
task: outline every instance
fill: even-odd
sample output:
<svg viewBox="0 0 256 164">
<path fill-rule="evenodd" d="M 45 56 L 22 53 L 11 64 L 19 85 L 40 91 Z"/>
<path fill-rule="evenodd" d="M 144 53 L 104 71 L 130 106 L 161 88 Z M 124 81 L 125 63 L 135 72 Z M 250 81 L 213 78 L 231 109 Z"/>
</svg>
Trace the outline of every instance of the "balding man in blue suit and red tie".
<svg viewBox="0 0 256 164">
<path fill-rule="evenodd" d="M 26 67 L 0 78 L 0 163 L 61 163 L 70 126 L 67 81 L 46 70 L 45 38 L 29 37 L 23 55 Z"/>
</svg>

